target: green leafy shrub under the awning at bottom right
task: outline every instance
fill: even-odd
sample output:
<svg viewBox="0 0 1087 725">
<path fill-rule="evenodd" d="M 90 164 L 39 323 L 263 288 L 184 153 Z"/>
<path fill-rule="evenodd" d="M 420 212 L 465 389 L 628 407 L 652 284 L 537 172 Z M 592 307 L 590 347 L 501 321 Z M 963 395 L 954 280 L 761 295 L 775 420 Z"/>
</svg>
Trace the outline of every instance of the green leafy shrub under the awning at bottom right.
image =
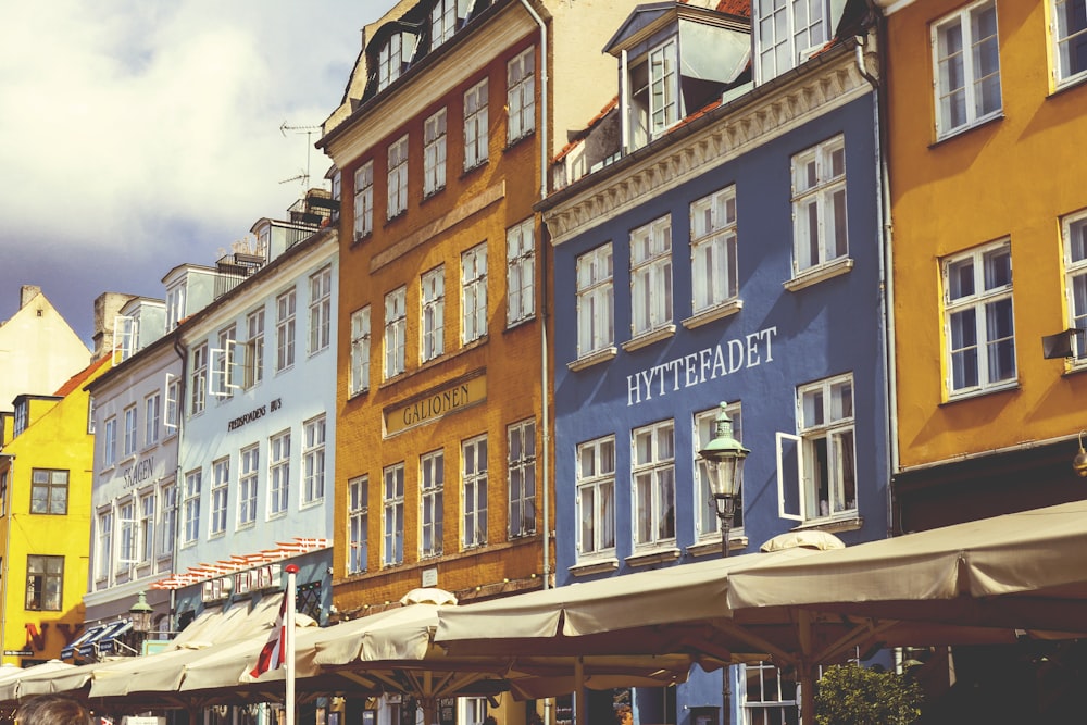
<svg viewBox="0 0 1087 725">
<path fill-rule="evenodd" d="M 855 664 L 824 671 L 815 692 L 817 725 L 910 725 L 921 716 L 917 683 Z"/>
</svg>

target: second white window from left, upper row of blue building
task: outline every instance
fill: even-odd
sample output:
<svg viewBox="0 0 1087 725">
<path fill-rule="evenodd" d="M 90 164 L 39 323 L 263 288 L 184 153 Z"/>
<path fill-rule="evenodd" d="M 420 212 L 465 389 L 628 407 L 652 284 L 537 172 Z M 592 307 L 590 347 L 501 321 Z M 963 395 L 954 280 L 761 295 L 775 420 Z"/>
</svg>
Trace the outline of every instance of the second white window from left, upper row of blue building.
<svg viewBox="0 0 1087 725">
<path fill-rule="evenodd" d="M 630 233 L 630 305 L 634 337 L 672 322 L 671 216 Z"/>
</svg>

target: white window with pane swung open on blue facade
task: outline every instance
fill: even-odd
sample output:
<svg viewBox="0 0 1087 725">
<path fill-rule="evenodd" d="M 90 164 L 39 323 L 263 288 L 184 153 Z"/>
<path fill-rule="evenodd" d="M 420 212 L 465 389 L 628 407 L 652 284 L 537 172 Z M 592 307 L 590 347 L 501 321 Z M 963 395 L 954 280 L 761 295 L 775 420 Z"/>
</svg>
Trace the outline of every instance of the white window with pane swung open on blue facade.
<svg viewBox="0 0 1087 725">
<path fill-rule="evenodd" d="M 857 515 L 854 427 L 851 373 L 797 388 L 799 435 L 777 434 L 782 518 Z"/>
</svg>

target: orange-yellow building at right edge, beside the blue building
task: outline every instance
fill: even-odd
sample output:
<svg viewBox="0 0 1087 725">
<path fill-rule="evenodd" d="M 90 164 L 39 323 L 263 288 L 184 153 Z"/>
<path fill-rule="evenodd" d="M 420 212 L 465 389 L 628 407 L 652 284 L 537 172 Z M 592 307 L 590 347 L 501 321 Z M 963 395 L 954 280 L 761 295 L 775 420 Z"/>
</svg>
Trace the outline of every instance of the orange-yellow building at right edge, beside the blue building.
<svg viewBox="0 0 1087 725">
<path fill-rule="evenodd" d="M 1087 52 L 1058 0 L 880 0 L 899 530 L 1087 495 Z M 1078 29 L 1077 29 L 1078 28 Z M 965 49 L 965 50 L 963 50 Z"/>
</svg>

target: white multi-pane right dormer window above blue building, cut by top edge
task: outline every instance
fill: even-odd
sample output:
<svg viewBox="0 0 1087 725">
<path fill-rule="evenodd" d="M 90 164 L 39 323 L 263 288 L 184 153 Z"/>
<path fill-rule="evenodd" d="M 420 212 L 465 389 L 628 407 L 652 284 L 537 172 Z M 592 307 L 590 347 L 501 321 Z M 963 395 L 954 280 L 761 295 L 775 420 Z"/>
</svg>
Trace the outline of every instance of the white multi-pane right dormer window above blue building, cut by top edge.
<svg viewBox="0 0 1087 725">
<path fill-rule="evenodd" d="M 830 39 L 827 0 L 760 0 L 752 3 L 758 84 L 790 71 Z"/>
</svg>

